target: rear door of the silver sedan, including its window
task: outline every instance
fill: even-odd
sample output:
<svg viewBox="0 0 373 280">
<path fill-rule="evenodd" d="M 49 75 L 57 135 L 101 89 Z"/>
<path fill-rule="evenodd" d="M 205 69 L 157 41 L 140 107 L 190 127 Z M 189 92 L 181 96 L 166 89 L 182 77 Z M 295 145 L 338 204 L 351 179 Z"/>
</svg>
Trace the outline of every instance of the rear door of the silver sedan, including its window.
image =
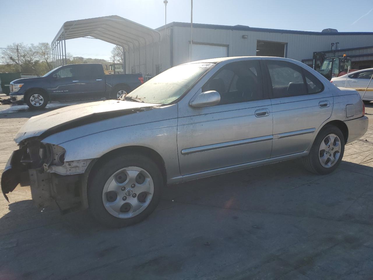
<svg viewBox="0 0 373 280">
<path fill-rule="evenodd" d="M 332 93 L 304 68 L 283 60 L 264 59 L 273 110 L 271 158 L 307 149 L 317 128 L 330 118 Z"/>
</svg>

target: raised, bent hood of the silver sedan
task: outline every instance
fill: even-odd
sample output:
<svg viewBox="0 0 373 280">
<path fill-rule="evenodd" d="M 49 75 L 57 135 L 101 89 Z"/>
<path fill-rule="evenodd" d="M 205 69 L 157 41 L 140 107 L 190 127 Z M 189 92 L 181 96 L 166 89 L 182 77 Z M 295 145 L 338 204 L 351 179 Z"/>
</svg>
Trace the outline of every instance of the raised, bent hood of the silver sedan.
<svg viewBox="0 0 373 280">
<path fill-rule="evenodd" d="M 21 142 L 30 137 L 43 137 L 69 128 L 114 118 L 129 113 L 134 109 L 150 108 L 159 104 L 140 103 L 131 101 L 104 100 L 53 110 L 30 118 L 18 131 L 14 141 Z"/>
</svg>

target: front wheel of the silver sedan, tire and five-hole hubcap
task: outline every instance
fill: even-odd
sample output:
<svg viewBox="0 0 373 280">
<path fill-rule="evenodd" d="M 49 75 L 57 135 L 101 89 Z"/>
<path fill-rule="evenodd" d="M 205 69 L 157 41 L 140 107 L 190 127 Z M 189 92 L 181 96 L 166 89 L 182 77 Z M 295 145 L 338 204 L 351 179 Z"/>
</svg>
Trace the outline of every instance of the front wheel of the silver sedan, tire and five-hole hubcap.
<svg viewBox="0 0 373 280">
<path fill-rule="evenodd" d="M 163 186 L 157 165 L 144 155 L 122 154 L 104 162 L 88 183 L 93 216 L 109 227 L 139 223 L 156 209 Z"/>
</svg>

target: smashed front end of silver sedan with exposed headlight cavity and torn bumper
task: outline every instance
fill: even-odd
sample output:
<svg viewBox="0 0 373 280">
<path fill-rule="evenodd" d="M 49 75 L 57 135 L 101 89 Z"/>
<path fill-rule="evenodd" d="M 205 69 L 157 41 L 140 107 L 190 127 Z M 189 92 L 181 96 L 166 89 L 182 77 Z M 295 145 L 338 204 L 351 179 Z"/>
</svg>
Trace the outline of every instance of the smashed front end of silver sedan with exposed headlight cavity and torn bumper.
<svg viewBox="0 0 373 280">
<path fill-rule="evenodd" d="M 32 200 L 46 207 L 55 201 L 65 213 L 82 203 L 84 172 L 92 159 L 65 162 L 66 151 L 58 145 L 25 139 L 12 153 L 1 175 L 1 190 L 7 194 L 18 184 L 31 187 Z"/>
</svg>

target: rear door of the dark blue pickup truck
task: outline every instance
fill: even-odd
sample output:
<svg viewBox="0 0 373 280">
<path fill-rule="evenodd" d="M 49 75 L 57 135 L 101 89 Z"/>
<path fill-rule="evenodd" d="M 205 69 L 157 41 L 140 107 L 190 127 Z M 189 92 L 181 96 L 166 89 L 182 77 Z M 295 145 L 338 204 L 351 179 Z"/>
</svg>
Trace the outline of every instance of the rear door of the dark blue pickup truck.
<svg viewBox="0 0 373 280">
<path fill-rule="evenodd" d="M 79 66 L 80 99 L 96 99 L 104 96 L 105 76 L 100 64 L 81 64 Z"/>
</svg>

